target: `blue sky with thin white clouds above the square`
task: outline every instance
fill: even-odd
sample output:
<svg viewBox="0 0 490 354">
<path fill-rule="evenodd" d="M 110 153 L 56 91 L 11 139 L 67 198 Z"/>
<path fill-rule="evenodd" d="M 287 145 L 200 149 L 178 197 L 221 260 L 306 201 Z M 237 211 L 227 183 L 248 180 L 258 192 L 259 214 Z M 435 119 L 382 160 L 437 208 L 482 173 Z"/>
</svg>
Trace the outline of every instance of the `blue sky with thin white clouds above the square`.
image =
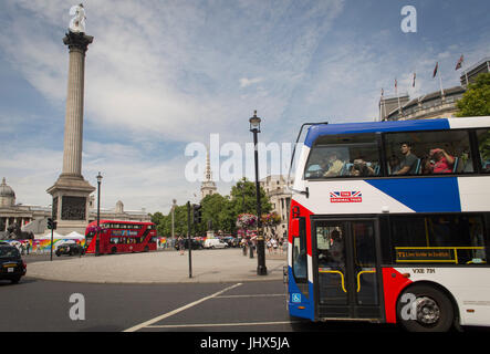
<svg viewBox="0 0 490 354">
<path fill-rule="evenodd" d="M 65 0 L 0 3 L 0 177 L 17 201 L 49 205 L 62 168 L 70 22 Z M 459 84 L 457 60 L 489 56 L 488 1 L 118 0 L 83 2 L 84 177 L 104 175 L 102 206 L 167 212 L 192 200 L 187 144 L 291 143 L 304 121 L 378 116 L 380 90 L 413 97 Z M 404 33 L 404 6 L 417 32 Z M 411 87 L 413 72 L 417 73 Z M 217 174 L 215 173 L 215 176 Z M 228 194 L 230 184 L 219 183 Z"/>
</svg>

